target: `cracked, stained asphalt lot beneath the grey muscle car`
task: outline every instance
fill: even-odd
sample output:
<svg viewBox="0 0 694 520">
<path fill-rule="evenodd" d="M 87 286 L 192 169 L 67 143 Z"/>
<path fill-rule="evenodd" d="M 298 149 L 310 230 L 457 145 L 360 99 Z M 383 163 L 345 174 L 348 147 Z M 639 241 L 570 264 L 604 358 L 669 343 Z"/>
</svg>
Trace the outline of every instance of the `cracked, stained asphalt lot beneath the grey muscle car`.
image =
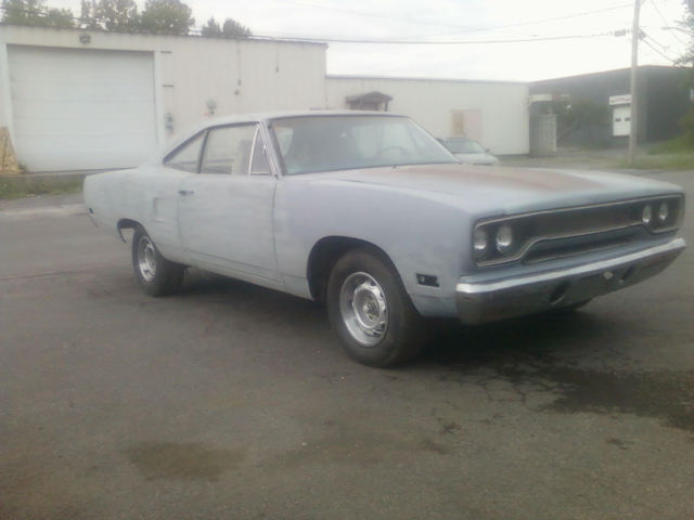
<svg viewBox="0 0 694 520">
<path fill-rule="evenodd" d="M 373 369 L 312 302 L 144 296 L 76 197 L 0 205 L 1 519 L 691 519 L 690 244 L 571 316 Z"/>
</svg>

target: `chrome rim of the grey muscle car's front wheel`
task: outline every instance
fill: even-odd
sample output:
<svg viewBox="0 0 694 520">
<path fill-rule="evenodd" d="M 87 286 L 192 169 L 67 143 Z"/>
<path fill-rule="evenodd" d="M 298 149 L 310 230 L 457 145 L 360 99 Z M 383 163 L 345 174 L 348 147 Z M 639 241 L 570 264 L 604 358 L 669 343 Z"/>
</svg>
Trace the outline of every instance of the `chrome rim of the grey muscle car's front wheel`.
<svg viewBox="0 0 694 520">
<path fill-rule="evenodd" d="M 343 282 L 339 313 L 351 337 L 364 347 L 378 344 L 388 329 L 385 294 L 368 273 L 352 273 Z"/>
</svg>

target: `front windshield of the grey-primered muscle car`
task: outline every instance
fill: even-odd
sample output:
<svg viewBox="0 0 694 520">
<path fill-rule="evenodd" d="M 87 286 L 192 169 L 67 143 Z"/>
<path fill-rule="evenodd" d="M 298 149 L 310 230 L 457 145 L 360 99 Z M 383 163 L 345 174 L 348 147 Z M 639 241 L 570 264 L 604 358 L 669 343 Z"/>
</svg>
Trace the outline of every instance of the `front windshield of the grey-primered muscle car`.
<svg viewBox="0 0 694 520">
<path fill-rule="evenodd" d="M 308 116 L 271 125 L 286 173 L 457 162 L 407 117 Z"/>
</svg>

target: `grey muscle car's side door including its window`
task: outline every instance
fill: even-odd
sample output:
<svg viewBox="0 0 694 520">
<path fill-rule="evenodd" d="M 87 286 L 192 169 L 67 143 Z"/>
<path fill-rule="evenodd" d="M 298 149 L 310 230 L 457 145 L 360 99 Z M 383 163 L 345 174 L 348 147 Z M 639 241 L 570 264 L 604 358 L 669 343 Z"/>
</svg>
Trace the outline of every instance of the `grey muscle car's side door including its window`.
<svg viewBox="0 0 694 520">
<path fill-rule="evenodd" d="M 207 130 L 200 172 L 179 184 L 187 255 L 211 268 L 278 281 L 272 226 L 277 178 L 257 123 Z"/>
</svg>

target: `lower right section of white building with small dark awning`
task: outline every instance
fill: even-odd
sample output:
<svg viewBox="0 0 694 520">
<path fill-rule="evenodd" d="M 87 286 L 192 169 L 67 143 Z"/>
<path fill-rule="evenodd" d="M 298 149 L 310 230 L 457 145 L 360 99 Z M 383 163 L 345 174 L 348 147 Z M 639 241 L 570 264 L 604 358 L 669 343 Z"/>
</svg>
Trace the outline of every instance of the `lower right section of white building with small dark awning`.
<svg viewBox="0 0 694 520">
<path fill-rule="evenodd" d="M 438 138 L 466 135 L 494 154 L 529 151 L 527 83 L 329 76 L 326 89 L 330 108 L 384 109 L 387 102 L 388 112 Z"/>
</svg>

